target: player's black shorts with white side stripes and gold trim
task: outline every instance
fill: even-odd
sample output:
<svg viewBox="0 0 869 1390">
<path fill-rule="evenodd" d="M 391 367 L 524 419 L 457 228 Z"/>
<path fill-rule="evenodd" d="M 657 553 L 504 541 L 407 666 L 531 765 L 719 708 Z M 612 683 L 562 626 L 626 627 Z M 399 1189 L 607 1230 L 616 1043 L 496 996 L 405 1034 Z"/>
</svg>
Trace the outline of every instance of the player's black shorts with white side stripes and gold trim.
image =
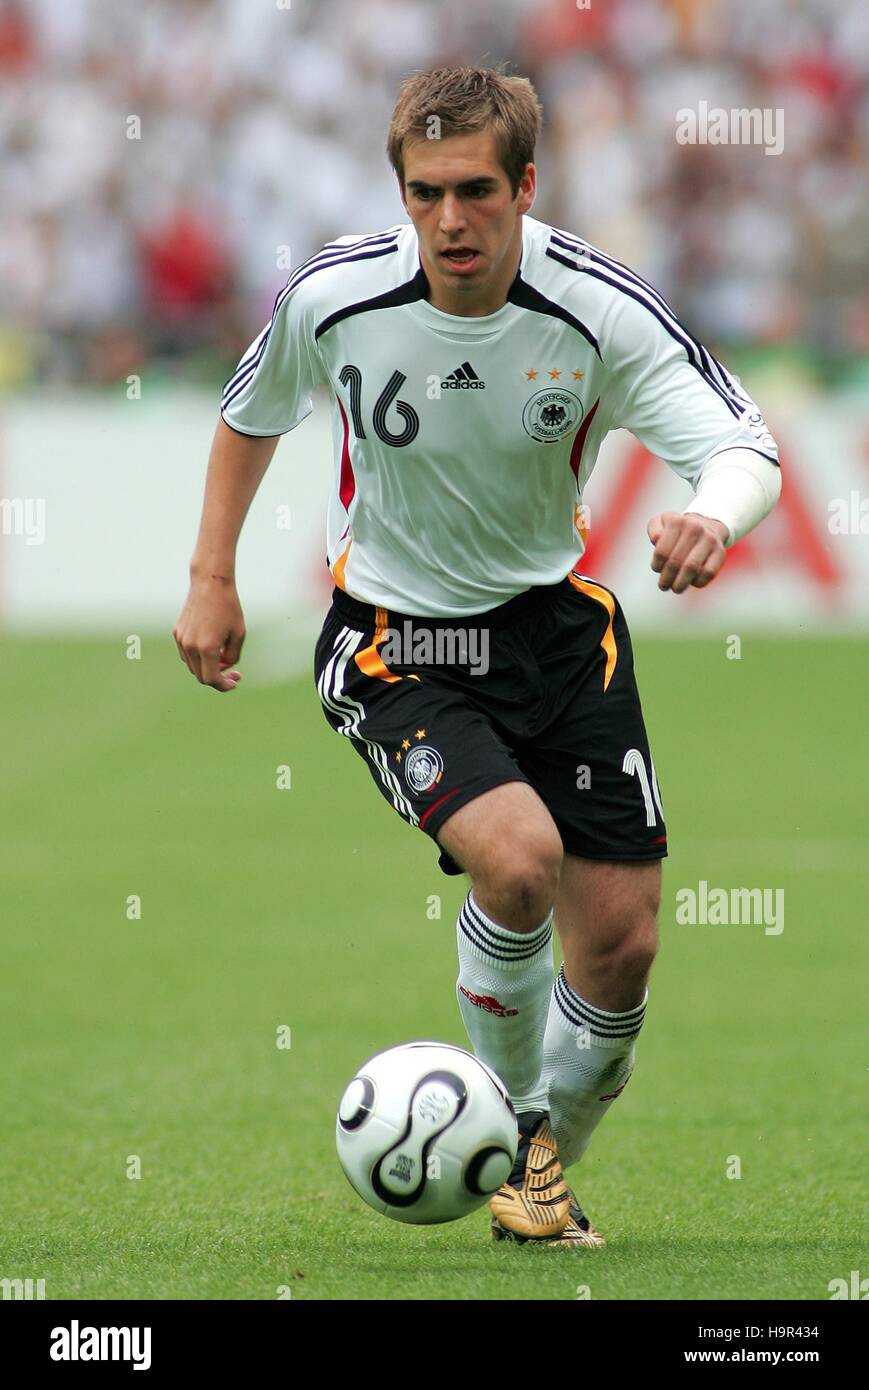
<svg viewBox="0 0 869 1390">
<path fill-rule="evenodd" d="M 456 619 L 413 617 L 335 589 L 314 671 L 332 728 L 389 805 L 435 842 L 466 802 L 524 781 L 567 853 L 666 855 L 627 624 L 596 580 L 573 571 Z M 446 851 L 439 863 L 463 872 Z"/>
</svg>

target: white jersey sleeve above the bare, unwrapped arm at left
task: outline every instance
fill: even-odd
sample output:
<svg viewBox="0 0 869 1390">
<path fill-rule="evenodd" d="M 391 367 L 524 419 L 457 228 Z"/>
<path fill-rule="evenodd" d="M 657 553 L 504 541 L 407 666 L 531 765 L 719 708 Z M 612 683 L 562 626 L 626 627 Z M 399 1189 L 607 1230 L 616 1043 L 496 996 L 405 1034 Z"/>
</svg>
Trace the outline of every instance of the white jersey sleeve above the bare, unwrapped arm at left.
<svg viewBox="0 0 869 1390">
<path fill-rule="evenodd" d="M 224 386 L 221 416 L 241 434 L 286 434 L 311 413 L 311 391 L 323 381 L 311 310 L 291 278 Z"/>
</svg>

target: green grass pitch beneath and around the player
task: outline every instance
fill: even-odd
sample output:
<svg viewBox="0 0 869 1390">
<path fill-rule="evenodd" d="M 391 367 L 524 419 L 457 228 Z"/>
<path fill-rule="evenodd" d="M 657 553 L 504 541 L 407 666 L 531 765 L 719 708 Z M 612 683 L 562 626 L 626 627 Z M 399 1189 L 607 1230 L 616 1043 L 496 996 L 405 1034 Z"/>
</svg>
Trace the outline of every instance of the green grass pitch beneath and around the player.
<svg viewBox="0 0 869 1390">
<path fill-rule="evenodd" d="M 494 1245 L 485 1208 L 385 1220 L 338 1168 L 366 1056 L 466 1045 L 466 880 L 311 680 L 218 696 L 170 638 L 140 660 L 6 638 L 0 1277 L 46 1298 L 826 1300 L 869 1273 L 869 649 L 724 645 L 635 642 L 672 841 L 662 952 L 635 1076 L 571 1172 L 609 1244 L 560 1252 Z M 783 888 L 784 930 L 677 926 L 701 878 Z"/>
</svg>

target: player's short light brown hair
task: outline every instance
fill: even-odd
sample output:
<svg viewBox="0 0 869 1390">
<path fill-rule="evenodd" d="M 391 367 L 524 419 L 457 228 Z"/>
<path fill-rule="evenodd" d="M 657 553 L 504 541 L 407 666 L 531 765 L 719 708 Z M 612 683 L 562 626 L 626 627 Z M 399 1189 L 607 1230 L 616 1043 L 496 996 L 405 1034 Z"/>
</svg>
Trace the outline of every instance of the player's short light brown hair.
<svg viewBox="0 0 869 1390">
<path fill-rule="evenodd" d="M 528 78 L 510 76 L 501 68 L 435 68 L 402 82 L 387 153 L 403 189 L 409 143 L 432 139 L 432 129 L 438 139 L 491 129 L 516 197 L 526 165 L 534 161 L 541 125 L 542 107 Z"/>
</svg>

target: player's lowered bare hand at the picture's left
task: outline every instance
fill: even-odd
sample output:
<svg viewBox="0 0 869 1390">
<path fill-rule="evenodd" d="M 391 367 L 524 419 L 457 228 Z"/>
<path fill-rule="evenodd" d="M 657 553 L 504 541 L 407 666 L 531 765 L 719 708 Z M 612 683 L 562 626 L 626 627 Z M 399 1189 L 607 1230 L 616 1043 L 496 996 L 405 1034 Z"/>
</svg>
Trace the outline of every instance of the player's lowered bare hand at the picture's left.
<svg viewBox="0 0 869 1390">
<path fill-rule="evenodd" d="M 245 641 L 245 617 L 235 581 L 218 575 L 190 580 L 190 592 L 172 628 L 181 660 L 203 685 L 234 691 L 242 673 L 238 662 Z"/>
</svg>

